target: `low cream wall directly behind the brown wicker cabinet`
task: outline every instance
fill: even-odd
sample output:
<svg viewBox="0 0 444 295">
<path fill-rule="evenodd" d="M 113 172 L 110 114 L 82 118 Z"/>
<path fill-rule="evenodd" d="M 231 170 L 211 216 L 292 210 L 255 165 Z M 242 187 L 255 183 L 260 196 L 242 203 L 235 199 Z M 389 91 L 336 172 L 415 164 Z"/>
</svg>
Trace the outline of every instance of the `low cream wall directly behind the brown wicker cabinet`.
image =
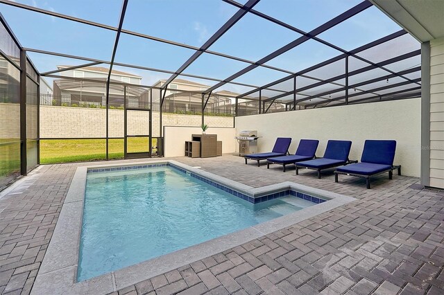
<svg viewBox="0 0 444 295">
<path fill-rule="evenodd" d="M 185 156 L 185 141 L 191 141 L 191 134 L 201 134 L 200 127 L 165 127 L 164 156 Z M 207 134 L 217 134 L 217 140 L 222 141 L 222 153 L 232 153 L 236 150 L 236 129 L 234 128 L 210 128 Z"/>
</svg>

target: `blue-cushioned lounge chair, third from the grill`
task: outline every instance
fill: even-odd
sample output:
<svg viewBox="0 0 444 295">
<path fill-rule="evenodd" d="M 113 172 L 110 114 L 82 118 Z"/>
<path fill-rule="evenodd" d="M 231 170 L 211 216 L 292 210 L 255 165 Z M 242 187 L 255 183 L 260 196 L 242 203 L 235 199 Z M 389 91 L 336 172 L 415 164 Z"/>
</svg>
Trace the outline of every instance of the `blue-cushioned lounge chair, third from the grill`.
<svg viewBox="0 0 444 295">
<path fill-rule="evenodd" d="M 350 147 L 351 141 L 328 141 L 323 158 L 296 163 L 296 175 L 299 175 L 299 168 L 307 168 L 317 170 L 318 178 L 321 178 L 321 170 L 357 163 L 348 159 Z"/>
</svg>

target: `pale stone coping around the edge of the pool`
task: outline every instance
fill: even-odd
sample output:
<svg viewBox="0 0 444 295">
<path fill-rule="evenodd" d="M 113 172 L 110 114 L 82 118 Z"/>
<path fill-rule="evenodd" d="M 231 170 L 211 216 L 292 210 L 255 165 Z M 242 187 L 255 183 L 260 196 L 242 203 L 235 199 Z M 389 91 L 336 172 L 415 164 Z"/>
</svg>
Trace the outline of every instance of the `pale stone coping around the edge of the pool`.
<svg viewBox="0 0 444 295">
<path fill-rule="evenodd" d="M 327 202 L 316 204 L 303 208 L 300 211 L 284 215 L 282 217 L 269 220 L 250 226 L 247 229 L 222 235 L 221 237 L 196 244 L 185 249 L 168 253 L 164 256 L 139 262 L 108 274 L 103 274 L 89 280 L 76 282 L 78 251 L 80 246 L 80 233 L 83 217 L 83 201 L 85 199 L 85 186 L 87 170 L 93 168 L 112 168 L 123 166 L 139 166 L 156 163 L 171 163 L 180 168 L 193 172 L 196 175 L 211 179 L 228 186 L 234 190 L 245 193 L 246 195 L 264 195 L 282 190 L 296 190 L 300 193 L 306 193 L 314 197 L 328 199 Z M 62 211 L 58 217 L 56 229 L 54 229 L 51 242 L 38 271 L 37 277 L 31 294 L 108 294 L 121 288 L 134 285 L 153 278 L 167 271 L 177 269 L 191 262 L 207 258 L 209 256 L 221 253 L 225 250 L 237 247 L 250 240 L 255 240 L 268 233 L 279 231 L 309 217 L 330 211 L 333 208 L 353 202 L 355 198 L 336 193 L 330 193 L 326 190 L 303 186 L 290 181 L 280 184 L 253 188 L 237 181 L 232 181 L 214 175 L 178 161 L 163 159 L 157 161 L 141 161 L 130 163 L 106 163 L 103 165 L 91 165 L 78 167 L 74 178 L 71 181 L 67 197 L 62 206 Z"/>
</svg>

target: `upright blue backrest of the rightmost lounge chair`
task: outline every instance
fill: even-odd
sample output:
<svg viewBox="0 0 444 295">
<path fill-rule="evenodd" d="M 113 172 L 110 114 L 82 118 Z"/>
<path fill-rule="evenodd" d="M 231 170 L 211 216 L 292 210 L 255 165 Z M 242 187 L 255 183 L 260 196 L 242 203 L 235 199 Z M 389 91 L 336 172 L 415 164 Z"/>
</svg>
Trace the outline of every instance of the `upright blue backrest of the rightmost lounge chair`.
<svg viewBox="0 0 444 295">
<path fill-rule="evenodd" d="M 393 166 L 396 141 L 366 140 L 361 162 Z"/>
</svg>

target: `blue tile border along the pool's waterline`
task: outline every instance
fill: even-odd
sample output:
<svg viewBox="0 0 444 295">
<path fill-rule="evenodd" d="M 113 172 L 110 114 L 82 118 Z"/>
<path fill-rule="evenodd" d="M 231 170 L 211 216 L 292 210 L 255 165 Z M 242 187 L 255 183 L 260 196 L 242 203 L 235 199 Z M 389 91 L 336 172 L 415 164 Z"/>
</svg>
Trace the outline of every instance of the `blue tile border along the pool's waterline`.
<svg viewBox="0 0 444 295">
<path fill-rule="evenodd" d="M 311 195 L 300 193 L 296 190 L 281 190 L 280 192 L 270 193 L 268 195 L 262 195 L 260 197 L 249 196 L 249 195 L 241 193 L 237 190 L 233 190 L 232 188 L 230 188 L 228 186 L 223 186 L 222 184 L 219 184 L 216 181 L 212 181 L 211 179 L 201 177 L 200 175 L 197 175 L 196 173 L 193 173 L 193 172 L 190 172 L 186 169 L 180 168 L 172 163 L 155 163 L 155 164 L 121 166 L 121 167 L 111 167 L 111 168 L 93 168 L 93 169 L 88 169 L 87 173 L 122 171 L 122 170 L 137 170 L 137 169 L 165 167 L 165 166 L 169 166 L 171 168 L 174 168 L 175 170 L 178 170 L 179 172 L 182 172 L 186 175 L 194 177 L 200 181 L 205 182 L 206 184 L 210 184 L 210 186 L 214 186 L 215 188 L 219 188 L 220 190 L 223 190 L 224 192 L 229 193 L 230 195 L 234 195 L 235 197 L 239 197 L 239 198 L 244 199 L 244 200 L 246 200 L 250 203 L 253 203 L 253 204 L 258 204 L 258 203 L 270 201 L 271 199 L 278 199 L 280 197 L 287 197 L 289 195 L 291 195 L 293 197 L 298 197 L 299 199 L 305 199 L 306 201 L 309 201 L 309 202 L 312 202 L 315 204 L 327 202 L 326 199 L 322 199 L 320 197 L 314 197 Z"/>
</svg>

